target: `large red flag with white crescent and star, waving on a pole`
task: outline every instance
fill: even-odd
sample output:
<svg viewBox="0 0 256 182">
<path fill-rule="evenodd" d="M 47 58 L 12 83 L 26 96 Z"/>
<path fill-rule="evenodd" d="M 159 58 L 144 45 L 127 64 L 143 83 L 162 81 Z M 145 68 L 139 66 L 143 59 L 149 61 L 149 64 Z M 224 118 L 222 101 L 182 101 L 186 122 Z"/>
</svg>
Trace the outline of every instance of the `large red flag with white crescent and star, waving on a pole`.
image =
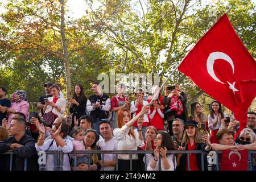
<svg viewBox="0 0 256 182">
<path fill-rule="evenodd" d="M 179 70 L 232 110 L 240 131 L 245 128 L 247 110 L 256 96 L 256 63 L 226 14 L 189 51 Z"/>
</svg>

